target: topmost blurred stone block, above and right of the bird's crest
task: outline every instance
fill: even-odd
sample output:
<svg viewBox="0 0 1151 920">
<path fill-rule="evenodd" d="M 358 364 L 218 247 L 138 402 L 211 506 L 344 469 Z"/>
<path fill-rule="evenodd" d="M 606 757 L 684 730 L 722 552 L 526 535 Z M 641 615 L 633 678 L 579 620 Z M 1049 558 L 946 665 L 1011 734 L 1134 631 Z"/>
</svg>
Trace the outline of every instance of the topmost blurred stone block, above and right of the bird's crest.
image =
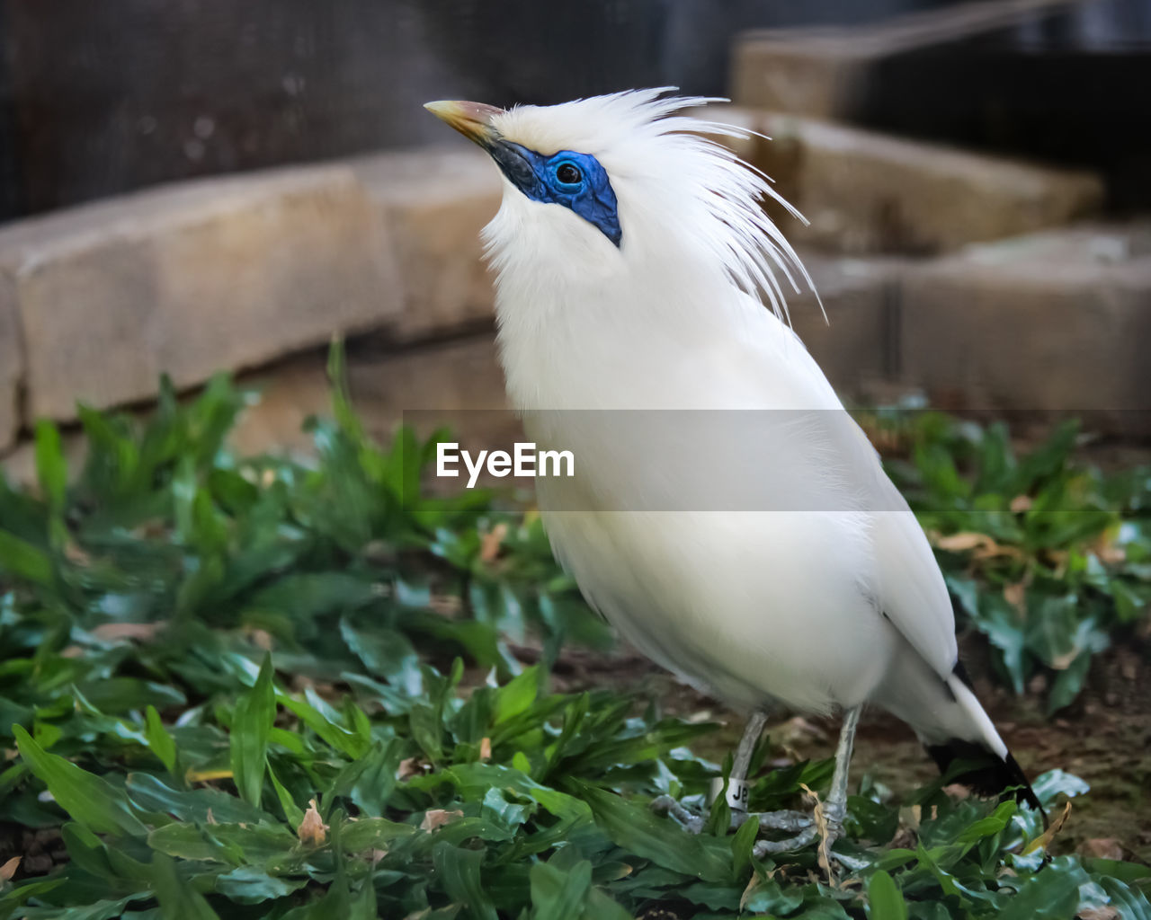
<svg viewBox="0 0 1151 920">
<path fill-rule="evenodd" d="M 992 0 L 895 16 L 875 25 L 745 32 L 732 48 L 732 100 L 851 121 L 862 114 L 876 68 L 884 61 L 1004 29 L 1072 2 Z"/>
</svg>

